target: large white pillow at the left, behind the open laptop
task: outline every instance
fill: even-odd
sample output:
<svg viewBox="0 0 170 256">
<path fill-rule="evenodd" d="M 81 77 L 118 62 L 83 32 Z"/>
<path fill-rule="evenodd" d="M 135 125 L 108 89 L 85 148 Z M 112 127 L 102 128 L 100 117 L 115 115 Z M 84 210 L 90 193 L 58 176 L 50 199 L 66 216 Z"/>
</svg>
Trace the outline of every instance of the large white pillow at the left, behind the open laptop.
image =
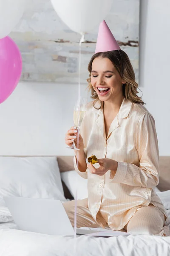
<svg viewBox="0 0 170 256">
<path fill-rule="evenodd" d="M 56 157 L 0 157 L 0 206 L 3 196 L 66 201 Z"/>
</svg>

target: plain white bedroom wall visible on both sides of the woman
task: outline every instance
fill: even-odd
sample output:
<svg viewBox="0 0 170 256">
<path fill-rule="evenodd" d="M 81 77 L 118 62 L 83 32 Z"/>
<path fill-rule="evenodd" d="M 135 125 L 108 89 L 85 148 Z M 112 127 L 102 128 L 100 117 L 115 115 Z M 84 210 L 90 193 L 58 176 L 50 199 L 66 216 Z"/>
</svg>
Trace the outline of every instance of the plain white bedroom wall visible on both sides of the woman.
<svg viewBox="0 0 170 256">
<path fill-rule="evenodd" d="M 163 4 L 164 3 L 164 4 Z M 170 155 L 169 0 L 142 0 L 140 89 L 156 120 L 160 155 Z M 85 85 L 82 94 L 87 95 Z M 71 155 L 64 144 L 72 125 L 76 84 L 22 82 L 0 105 L 0 155 Z"/>
</svg>

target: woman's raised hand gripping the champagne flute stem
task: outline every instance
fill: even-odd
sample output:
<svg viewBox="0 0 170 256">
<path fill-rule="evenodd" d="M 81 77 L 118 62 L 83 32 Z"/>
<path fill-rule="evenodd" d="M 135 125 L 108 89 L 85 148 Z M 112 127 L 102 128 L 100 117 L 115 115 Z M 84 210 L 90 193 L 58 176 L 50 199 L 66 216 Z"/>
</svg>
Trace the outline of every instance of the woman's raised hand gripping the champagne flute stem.
<svg viewBox="0 0 170 256">
<path fill-rule="evenodd" d="M 84 143 L 82 136 L 79 134 L 79 130 L 77 130 L 75 127 L 71 127 L 70 130 L 67 131 L 65 134 L 65 144 L 69 147 L 74 143 L 79 150 L 84 149 Z"/>
</svg>

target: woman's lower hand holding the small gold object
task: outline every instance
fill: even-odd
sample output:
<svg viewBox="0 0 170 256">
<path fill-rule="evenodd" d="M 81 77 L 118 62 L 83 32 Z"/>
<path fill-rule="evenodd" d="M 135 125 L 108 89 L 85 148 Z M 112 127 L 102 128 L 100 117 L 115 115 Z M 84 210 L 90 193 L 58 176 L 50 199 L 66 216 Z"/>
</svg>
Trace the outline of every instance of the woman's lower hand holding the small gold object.
<svg viewBox="0 0 170 256">
<path fill-rule="evenodd" d="M 108 172 L 108 170 L 114 171 L 116 173 L 118 165 L 117 161 L 112 160 L 110 158 L 101 158 L 97 160 L 100 165 L 100 167 L 97 169 L 92 165 L 92 163 L 88 164 L 88 169 L 91 173 L 99 176 L 104 175 L 106 172 Z"/>
</svg>

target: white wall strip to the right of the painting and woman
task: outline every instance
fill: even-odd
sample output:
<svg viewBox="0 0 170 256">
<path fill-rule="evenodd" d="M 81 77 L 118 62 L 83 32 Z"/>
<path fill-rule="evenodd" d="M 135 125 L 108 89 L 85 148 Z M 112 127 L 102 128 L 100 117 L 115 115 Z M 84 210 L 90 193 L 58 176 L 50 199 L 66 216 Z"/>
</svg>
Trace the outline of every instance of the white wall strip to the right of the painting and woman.
<svg viewBox="0 0 170 256">
<path fill-rule="evenodd" d="M 156 120 L 160 155 L 170 155 L 170 1 L 141 1 L 140 86 Z"/>
</svg>

